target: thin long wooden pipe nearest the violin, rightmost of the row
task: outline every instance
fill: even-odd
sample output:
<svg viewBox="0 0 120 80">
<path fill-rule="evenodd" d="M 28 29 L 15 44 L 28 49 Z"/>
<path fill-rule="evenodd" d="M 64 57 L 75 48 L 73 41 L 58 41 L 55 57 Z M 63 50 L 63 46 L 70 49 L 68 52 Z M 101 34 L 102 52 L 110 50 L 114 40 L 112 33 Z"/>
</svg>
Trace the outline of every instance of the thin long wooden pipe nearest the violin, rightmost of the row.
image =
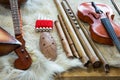
<svg viewBox="0 0 120 80">
<path fill-rule="evenodd" d="M 69 6 L 68 2 L 66 2 L 66 3 Z M 69 6 L 69 8 L 70 8 L 70 6 Z M 70 8 L 70 10 L 72 10 L 72 9 Z M 72 11 L 72 13 L 73 13 L 73 11 Z M 75 16 L 74 13 L 73 13 L 72 16 Z M 75 20 L 74 20 L 75 23 L 77 22 L 76 25 L 77 26 L 79 25 L 79 27 L 82 29 L 82 31 L 83 31 L 84 35 L 86 36 L 87 40 L 89 41 L 91 47 L 93 48 L 93 50 L 95 51 L 95 53 L 99 57 L 99 59 L 102 61 L 102 64 L 103 64 L 105 72 L 108 73 L 109 70 L 110 70 L 109 64 L 106 61 L 106 59 L 104 58 L 104 56 L 101 54 L 101 52 L 98 50 L 98 48 L 96 47 L 96 45 L 94 44 L 94 42 L 92 41 L 92 39 L 89 37 L 88 31 L 86 29 L 86 26 L 84 26 L 80 22 L 80 20 L 78 20 L 78 18 L 76 16 L 74 18 L 75 18 Z"/>
</svg>

